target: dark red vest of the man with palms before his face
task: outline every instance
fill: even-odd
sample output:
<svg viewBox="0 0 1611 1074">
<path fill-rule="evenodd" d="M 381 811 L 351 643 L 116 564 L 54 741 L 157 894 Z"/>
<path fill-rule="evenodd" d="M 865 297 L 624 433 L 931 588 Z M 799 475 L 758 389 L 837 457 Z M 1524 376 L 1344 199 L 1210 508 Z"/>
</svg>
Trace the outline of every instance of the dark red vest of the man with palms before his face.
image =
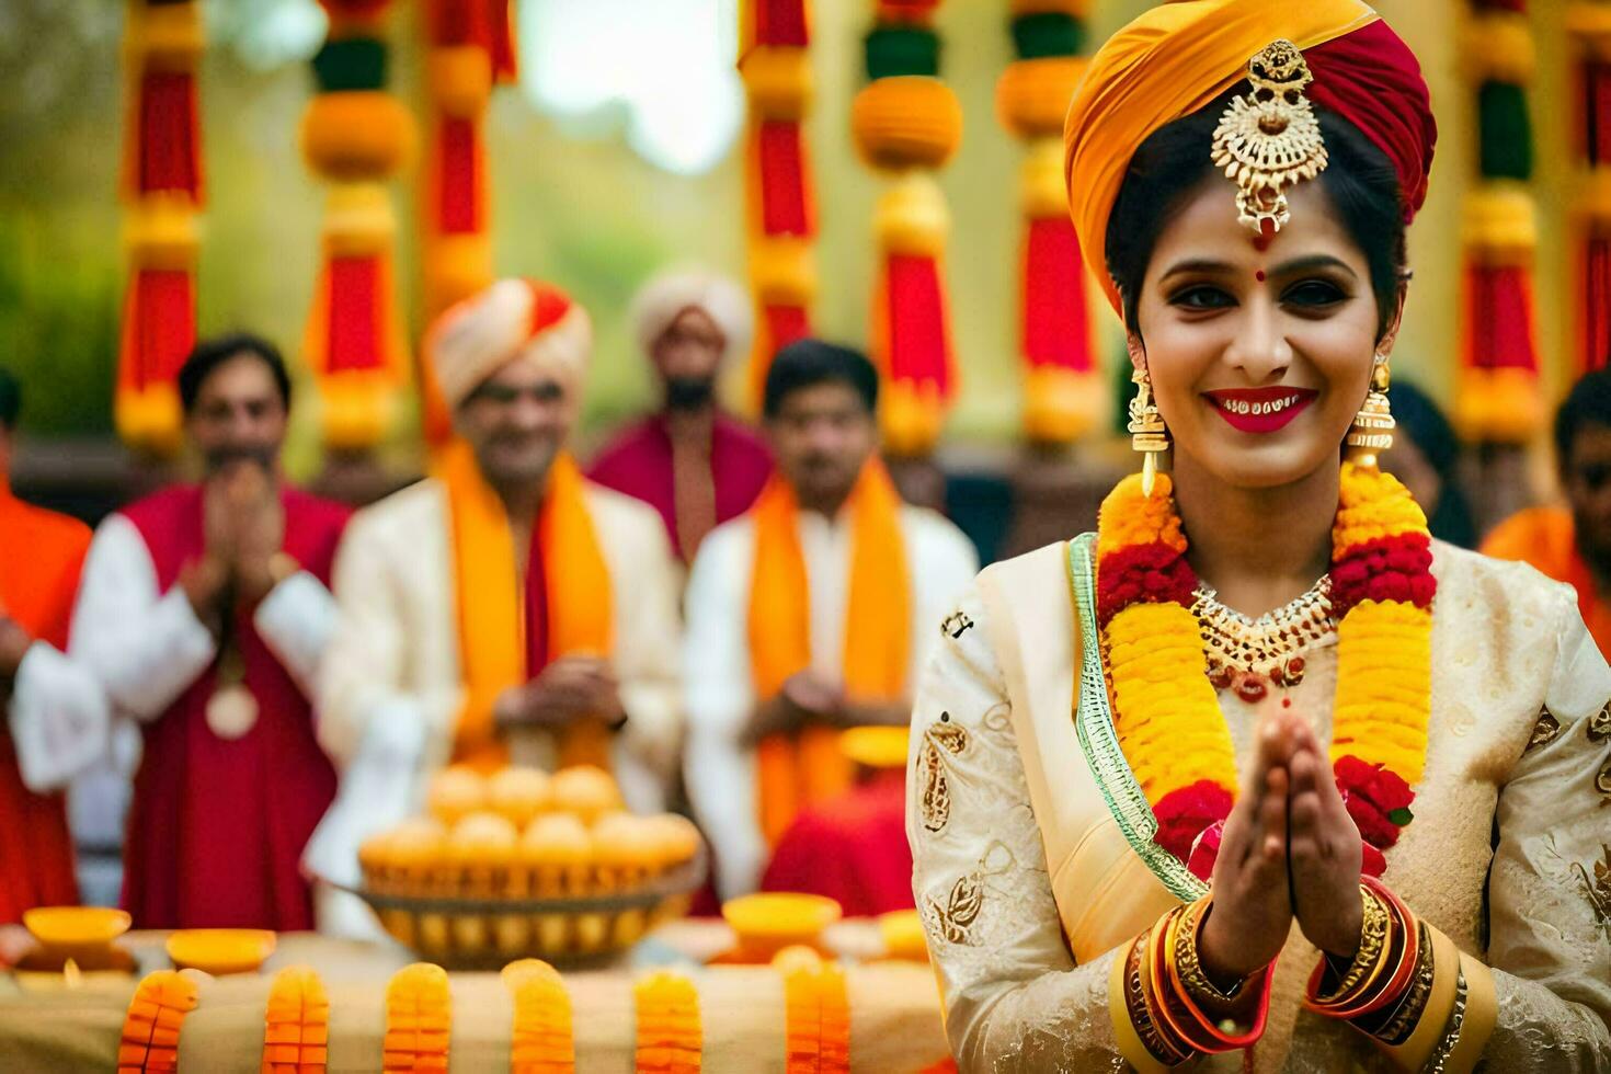
<svg viewBox="0 0 1611 1074">
<path fill-rule="evenodd" d="M 330 583 L 348 510 L 287 488 L 285 552 Z M 122 512 L 145 539 L 164 593 L 205 552 L 198 486 L 161 491 Z M 137 927 L 314 927 L 298 863 L 335 797 L 335 770 L 314 739 L 313 708 L 237 609 L 232 638 L 245 662 L 258 721 L 240 739 L 206 725 L 214 668 L 159 718 L 142 726 L 122 902 Z"/>
</svg>

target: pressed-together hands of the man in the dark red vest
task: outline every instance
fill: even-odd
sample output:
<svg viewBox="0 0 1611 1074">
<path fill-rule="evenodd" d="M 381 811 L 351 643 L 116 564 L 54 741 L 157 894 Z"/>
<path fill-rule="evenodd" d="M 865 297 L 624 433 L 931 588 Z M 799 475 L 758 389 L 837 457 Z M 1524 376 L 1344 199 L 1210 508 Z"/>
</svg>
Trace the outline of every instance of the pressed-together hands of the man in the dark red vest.
<svg viewBox="0 0 1611 1074">
<path fill-rule="evenodd" d="M 285 543 L 285 506 L 274 473 L 258 459 L 235 459 L 201 493 L 205 551 L 185 564 L 179 585 L 197 618 L 217 630 L 227 609 L 256 604 L 277 578 L 274 557 Z"/>
</svg>

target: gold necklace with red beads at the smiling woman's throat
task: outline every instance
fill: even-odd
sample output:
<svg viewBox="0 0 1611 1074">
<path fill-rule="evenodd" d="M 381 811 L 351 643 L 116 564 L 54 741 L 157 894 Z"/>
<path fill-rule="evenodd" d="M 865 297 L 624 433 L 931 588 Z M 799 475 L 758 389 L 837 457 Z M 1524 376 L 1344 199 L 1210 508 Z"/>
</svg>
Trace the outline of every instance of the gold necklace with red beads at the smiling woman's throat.
<svg viewBox="0 0 1611 1074">
<path fill-rule="evenodd" d="M 1208 681 L 1215 689 L 1236 684 L 1239 671 L 1242 676 L 1266 678 L 1276 686 L 1297 686 L 1305 670 L 1300 654 L 1337 630 L 1331 612 L 1331 575 L 1321 575 L 1308 593 L 1257 618 L 1221 604 L 1207 581 L 1199 583 L 1192 597 Z M 1237 692 L 1247 696 L 1240 688 Z M 1250 692 L 1263 696 L 1263 689 Z"/>
</svg>

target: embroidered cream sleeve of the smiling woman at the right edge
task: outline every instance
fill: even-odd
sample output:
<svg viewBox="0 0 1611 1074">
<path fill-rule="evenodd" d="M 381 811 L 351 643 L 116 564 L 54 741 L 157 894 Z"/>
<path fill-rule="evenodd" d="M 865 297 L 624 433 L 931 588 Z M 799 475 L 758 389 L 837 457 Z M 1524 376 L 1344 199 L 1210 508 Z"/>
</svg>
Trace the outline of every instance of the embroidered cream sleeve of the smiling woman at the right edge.
<svg viewBox="0 0 1611 1074">
<path fill-rule="evenodd" d="M 1611 670 L 1561 601 L 1532 741 L 1500 792 L 1487 1069 L 1611 1069 Z"/>
</svg>

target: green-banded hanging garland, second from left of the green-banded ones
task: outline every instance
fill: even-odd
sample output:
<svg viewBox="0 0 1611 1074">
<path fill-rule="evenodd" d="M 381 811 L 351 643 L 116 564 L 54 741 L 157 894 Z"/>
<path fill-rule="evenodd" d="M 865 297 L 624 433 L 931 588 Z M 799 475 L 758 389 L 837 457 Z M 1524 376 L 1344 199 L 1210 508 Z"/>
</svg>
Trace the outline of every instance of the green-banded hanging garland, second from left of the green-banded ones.
<svg viewBox="0 0 1611 1074">
<path fill-rule="evenodd" d="M 962 142 L 962 106 L 939 81 L 939 0 L 876 0 L 867 34 L 868 84 L 851 108 L 862 159 L 897 176 L 880 196 L 872 351 L 883 375 L 880 423 L 897 456 L 923 456 L 939 441 L 957 393 L 944 253 L 950 213 L 928 176 Z"/>
</svg>

